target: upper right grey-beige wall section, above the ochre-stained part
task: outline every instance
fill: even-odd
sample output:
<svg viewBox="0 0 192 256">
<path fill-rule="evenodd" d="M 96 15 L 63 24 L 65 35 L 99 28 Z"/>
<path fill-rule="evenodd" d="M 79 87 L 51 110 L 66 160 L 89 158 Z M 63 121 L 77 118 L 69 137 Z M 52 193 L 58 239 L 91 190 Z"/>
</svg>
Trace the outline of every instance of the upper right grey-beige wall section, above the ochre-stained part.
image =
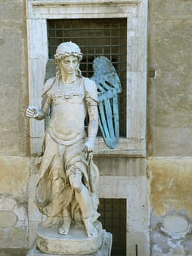
<svg viewBox="0 0 192 256">
<path fill-rule="evenodd" d="M 149 154 L 192 156 L 191 1 L 149 1 Z"/>
</svg>

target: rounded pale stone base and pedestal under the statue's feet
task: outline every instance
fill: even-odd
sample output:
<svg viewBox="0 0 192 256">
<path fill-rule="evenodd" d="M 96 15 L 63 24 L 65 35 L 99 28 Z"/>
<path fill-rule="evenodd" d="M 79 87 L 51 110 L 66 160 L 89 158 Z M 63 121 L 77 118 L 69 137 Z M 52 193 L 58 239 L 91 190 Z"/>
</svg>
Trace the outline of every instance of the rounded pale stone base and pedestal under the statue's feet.
<svg viewBox="0 0 192 256">
<path fill-rule="evenodd" d="M 99 222 L 100 223 L 100 222 Z M 99 224 L 101 228 L 101 223 Z M 43 230 L 43 231 L 42 231 Z M 49 228 L 49 232 L 45 235 L 45 227 L 40 226 L 38 233 L 44 233 L 43 238 L 37 236 L 37 243 L 40 249 L 45 249 L 47 252 L 39 251 L 37 246 L 34 246 L 27 256 L 110 256 L 112 246 L 112 234 L 105 230 L 99 230 L 98 237 L 88 238 L 85 230 L 71 228 L 68 235 L 62 236 L 57 233 L 58 229 Z M 74 237 L 75 234 L 75 237 Z M 45 238 L 47 237 L 47 238 Z M 101 239 L 101 244 L 100 244 Z M 49 240 L 49 241 L 48 241 Z M 45 244 L 44 244 L 45 243 Z M 95 243 L 95 244 L 94 244 Z M 100 246 L 99 246 L 100 244 Z M 54 247 L 55 246 L 55 247 Z M 99 246 L 99 248 L 97 248 Z M 49 251 L 49 252 L 48 252 Z M 53 252 L 54 251 L 54 252 Z M 91 252 L 92 251 L 92 252 Z"/>
</svg>

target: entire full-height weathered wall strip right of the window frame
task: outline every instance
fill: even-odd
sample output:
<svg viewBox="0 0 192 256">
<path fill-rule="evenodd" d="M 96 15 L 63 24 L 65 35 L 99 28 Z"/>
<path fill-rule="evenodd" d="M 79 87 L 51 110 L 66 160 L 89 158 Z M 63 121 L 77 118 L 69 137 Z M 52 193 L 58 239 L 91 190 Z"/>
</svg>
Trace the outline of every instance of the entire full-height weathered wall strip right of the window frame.
<svg viewBox="0 0 192 256">
<path fill-rule="evenodd" d="M 148 176 L 152 255 L 191 255 L 191 25 L 188 0 L 150 0 L 148 16 Z M 186 233 L 162 231 L 166 217 Z M 181 237 L 182 233 L 185 233 Z"/>
</svg>

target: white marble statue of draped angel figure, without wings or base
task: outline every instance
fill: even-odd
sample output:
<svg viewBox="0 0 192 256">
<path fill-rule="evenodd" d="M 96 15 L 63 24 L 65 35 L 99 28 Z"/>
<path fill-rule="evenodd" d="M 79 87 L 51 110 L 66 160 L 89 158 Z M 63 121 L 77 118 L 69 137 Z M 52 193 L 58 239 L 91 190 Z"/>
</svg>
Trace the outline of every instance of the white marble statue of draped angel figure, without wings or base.
<svg viewBox="0 0 192 256">
<path fill-rule="evenodd" d="M 47 216 L 43 227 L 58 227 L 66 235 L 70 227 L 83 226 L 96 236 L 99 170 L 93 163 L 98 130 L 96 83 L 80 72 L 82 53 L 74 42 L 63 42 L 55 53 L 57 72 L 45 83 L 41 108 L 28 106 L 26 116 L 51 118 L 42 143 L 37 207 Z M 88 137 L 85 117 L 88 113 Z"/>
</svg>

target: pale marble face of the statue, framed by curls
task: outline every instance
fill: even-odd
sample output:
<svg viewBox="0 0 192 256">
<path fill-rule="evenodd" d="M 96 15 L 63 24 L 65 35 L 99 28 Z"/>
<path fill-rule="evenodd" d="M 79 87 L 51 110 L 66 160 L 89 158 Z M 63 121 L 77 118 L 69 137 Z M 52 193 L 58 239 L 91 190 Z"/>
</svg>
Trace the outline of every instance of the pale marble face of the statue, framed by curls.
<svg viewBox="0 0 192 256">
<path fill-rule="evenodd" d="M 68 73 L 68 74 L 72 74 L 74 73 L 78 66 L 79 66 L 79 62 L 76 56 L 70 55 L 70 56 L 66 56 L 64 57 L 64 59 L 61 59 L 61 69 Z"/>
</svg>

